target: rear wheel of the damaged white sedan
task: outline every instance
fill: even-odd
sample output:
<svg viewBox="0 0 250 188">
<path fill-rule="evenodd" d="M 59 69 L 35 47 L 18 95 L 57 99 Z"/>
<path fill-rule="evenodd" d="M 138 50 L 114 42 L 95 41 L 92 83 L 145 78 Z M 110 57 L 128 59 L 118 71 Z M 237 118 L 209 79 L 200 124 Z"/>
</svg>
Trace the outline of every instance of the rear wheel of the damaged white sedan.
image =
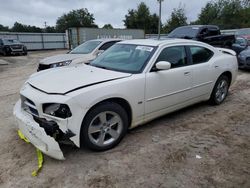
<svg viewBox="0 0 250 188">
<path fill-rule="evenodd" d="M 224 83 L 225 86 L 221 87 L 222 83 Z M 214 85 L 213 92 L 209 99 L 210 104 L 213 105 L 221 104 L 227 97 L 229 86 L 230 86 L 229 78 L 226 75 L 221 75 Z"/>
</svg>

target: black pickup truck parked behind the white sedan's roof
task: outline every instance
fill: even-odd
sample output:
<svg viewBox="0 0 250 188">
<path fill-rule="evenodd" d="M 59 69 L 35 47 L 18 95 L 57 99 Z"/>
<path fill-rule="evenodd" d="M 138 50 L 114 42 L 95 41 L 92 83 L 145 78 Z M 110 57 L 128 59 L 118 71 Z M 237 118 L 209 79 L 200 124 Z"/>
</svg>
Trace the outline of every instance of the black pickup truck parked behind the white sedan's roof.
<svg viewBox="0 0 250 188">
<path fill-rule="evenodd" d="M 173 30 L 168 37 L 197 40 L 222 48 L 232 48 L 232 44 L 235 42 L 234 35 L 222 35 L 219 27 L 215 25 L 189 25 L 178 27 Z"/>
</svg>

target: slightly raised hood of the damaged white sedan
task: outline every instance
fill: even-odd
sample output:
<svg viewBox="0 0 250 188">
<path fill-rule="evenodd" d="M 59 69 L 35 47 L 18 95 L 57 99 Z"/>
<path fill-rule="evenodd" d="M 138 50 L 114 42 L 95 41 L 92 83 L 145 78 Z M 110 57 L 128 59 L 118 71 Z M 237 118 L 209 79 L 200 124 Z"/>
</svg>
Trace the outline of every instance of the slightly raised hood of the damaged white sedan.
<svg viewBox="0 0 250 188">
<path fill-rule="evenodd" d="M 79 65 L 38 72 L 33 74 L 27 82 L 33 88 L 48 94 L 67 94 L 84 87 L 129 76 L 131 76 L 129 73 Z"/>
</svg>

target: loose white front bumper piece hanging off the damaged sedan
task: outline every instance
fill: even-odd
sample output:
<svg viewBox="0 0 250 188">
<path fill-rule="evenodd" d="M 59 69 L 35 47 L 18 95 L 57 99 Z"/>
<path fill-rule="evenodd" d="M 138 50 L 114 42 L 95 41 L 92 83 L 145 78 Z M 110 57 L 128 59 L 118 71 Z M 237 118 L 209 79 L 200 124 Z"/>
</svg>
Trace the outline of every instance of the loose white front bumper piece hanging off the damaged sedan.
<svg viewBox="0 0 250 188">
<path fill-rule="evenodd" d="M 40 127 L 39 124 L 34 121 L 32 115 L 21 109 L 20 100 L 14 107 L 14 115 L 18 128 L 36 148 L 52 158 L 59 160 L 65 159 L 58 142 L 46 134 L 44 128 Z"/>
</svg>

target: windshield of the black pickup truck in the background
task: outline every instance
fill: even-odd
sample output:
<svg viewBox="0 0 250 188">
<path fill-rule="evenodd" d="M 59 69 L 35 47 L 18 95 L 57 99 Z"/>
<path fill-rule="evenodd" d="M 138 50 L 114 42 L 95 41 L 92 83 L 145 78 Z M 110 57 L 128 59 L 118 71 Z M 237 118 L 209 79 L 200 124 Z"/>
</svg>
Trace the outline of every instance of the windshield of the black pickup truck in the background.
<svg viewBox="0 0 250 188">
<path fill-rule="evenodd" d="M 199 31 L 198 27 L 179 27 L 173 30 L 168 37 L 170 38 L 194 38 Z"/>
</svg>

